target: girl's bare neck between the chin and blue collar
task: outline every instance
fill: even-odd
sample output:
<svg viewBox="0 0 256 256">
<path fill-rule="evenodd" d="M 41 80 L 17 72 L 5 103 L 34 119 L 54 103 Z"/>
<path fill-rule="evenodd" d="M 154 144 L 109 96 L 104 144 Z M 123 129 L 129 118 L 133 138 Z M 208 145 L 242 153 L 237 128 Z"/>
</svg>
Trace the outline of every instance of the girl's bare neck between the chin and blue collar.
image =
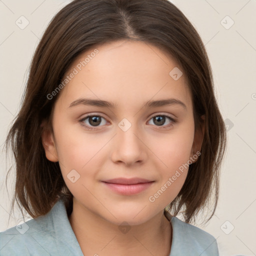
<svg viewBox="0 0 256 256">
<path fill-rule="evenodd" d="M 142 224 L 120 227 L 74 200 L 68 218 L 84 255 L 169 256 L 172 228 L 163 211 Z"/>
</svg>

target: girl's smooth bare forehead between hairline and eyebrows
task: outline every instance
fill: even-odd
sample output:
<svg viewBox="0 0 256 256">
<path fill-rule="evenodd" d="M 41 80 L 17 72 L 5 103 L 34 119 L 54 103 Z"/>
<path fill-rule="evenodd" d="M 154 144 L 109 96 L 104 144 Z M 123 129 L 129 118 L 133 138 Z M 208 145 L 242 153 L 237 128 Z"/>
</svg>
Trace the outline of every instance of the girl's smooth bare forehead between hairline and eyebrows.
<svg viewBox="0 0 256 256">
<path fill-rule="evenodd" d="M 190 103 L 182 68 L 170 54 L 148 43 L 122 40 L 92 47 L 73 61 L 64 77 L 74 69 L 77 73 L 63 89 L 69 101 L 91 96 L 118 105 L 121 101 L 134 103 L 134 98 L 144 102 L 178 97 Z M 182 75 L 174 79 L 175 73 Z"/>
</svg>

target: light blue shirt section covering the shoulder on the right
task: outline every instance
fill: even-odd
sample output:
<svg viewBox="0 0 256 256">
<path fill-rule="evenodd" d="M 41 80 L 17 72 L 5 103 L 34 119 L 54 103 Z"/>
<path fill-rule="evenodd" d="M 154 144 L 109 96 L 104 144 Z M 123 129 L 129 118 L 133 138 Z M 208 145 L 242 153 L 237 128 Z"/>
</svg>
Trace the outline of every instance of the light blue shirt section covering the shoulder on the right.
<svg viewBox="0 0 256 256">
<path fill-rule="evenodd" d="M 170 256 L 201 255 L 218 256 L 218 247 L 213 235 L 186 223 L 175 216 L 171 217 L 172 245 Z"/>
</svg>

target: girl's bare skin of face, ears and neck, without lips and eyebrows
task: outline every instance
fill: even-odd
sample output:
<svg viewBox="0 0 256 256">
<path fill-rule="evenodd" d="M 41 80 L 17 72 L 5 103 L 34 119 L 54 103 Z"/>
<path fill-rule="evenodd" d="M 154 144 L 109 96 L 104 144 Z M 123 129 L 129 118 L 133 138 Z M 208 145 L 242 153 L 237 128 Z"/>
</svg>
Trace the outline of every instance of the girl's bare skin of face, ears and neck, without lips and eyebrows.
<svg viewBox="0 0 256 256">
<path fill-rule="evenodd" d="M 79 55 L 66 74 L 93 49 Z M 84 255 L 169 255 L 172 228 L 163 209 L 180 191 L 187 169 L 154 202 L 148 198 L 200 150 L 203 130 L 194 130 L 190 91 L 184 75 L 178 80 L 169 75 L 177 64 L 153 45 L 123 40 L 97 49 L 59 92 L 53 133 L 46 127 L 42 133 L 45 155 L 59 161 L 74 196 L 69 221 Z M 81 97 L 111 101 L 116 107 L 69 107 Z M 142 108 L 147 100 L 166 98 L 181 100 L 186 109 L 179 104 Z M 89 118 L 79 121 L 88 114 L 104 118 L 98 126 Z M 165 117 L 159 124 L 152 118 L 159 115 L 176 121 Z M 118 126 L 123 118 L 131 124 L 126 131 Z M 72 169 L 80 175 L 74 183 L 67 177 Z M 101 182 L 116 177 L 154 182 L 138 194 L 120 195 Z M 123 221 L 130 228 L 125 233 L 118 228 Z"/>
</svg>

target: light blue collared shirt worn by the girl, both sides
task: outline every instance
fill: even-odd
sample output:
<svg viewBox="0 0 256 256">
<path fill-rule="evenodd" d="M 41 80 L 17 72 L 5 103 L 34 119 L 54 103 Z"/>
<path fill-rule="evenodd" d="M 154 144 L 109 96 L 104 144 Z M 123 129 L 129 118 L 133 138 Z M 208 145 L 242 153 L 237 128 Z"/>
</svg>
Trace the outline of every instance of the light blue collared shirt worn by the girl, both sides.
<svg viewBox="0 0 256 256">
<path fill-rule="evenodd" d="M 217 242 L 211 234 L 175 216 L 170 222 L 172 243 L 169 256 L 218 255 Z M 100 248 L 95 253 L 100 256 Z M 58 200 L 46 215 L 0 232 L 0 256 L 20 255 L 83 256 L 62 200 Z"/>
</svg>

